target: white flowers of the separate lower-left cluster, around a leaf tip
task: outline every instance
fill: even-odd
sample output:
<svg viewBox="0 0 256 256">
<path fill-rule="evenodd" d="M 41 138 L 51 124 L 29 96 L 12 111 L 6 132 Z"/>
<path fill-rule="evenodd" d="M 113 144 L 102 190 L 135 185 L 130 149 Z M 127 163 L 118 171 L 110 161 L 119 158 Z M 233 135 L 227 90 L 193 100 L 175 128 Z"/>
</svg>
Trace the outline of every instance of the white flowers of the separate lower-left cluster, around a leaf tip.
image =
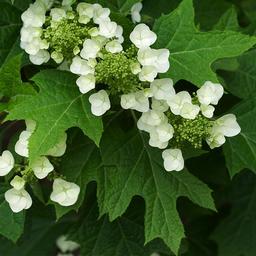
<svg viewBox="0 0 256 256">
<path fill-rule="evenodd" d="M 36 129 L 36 123 L 32 120 L 26 120 L 26 130 L 23 131 L 19 140 L 15 145 L 15 152 L 22 156 L 29 156 L 29 138 Z M 60 157 L 66 151 L 66 133 L 60 138 L 59 142 L 51 148 L 47 155 Z M 8 150 L 4 151 L 0 156 L 0 176 L 6 176 L 15 167 L 15 160 L 12 153 Z M 39 157 L 27 167 L 28 171 L 32 171 L 37 179 L 44 179 L 49 173 L 54 171 L 54 166 L 46 156 Z M 26 169 L 25 169 L 26 172 Z M 13 212 L 20 212 L 28 209 L 32 205 L 32 199 L 25 190 L 26 179 L 16 175 L 10 182 L 12 188 L 5 193 L 5 199 L 9 203 Z M 62 206 L 70 206 L 76 203 L 80 188 L 74 183 L 67 182 L 61 178 L 56 178 L 53 182 L 53 191 L 50 195 L 52 201 Z"/>
</svg>

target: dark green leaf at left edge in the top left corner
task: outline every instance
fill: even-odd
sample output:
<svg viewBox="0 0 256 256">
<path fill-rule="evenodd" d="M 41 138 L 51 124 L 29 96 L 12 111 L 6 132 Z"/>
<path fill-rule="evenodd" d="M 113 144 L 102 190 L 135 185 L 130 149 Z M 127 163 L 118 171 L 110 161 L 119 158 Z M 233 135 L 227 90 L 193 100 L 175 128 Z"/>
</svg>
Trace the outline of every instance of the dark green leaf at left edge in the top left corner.
<svg viewBox="0 0 256 256">
<path fill-rule="evenodd" d="M 0 3 L 0 67 L 13 55 L 13 51 L 20 52 L 17 49 L 17 40 L 21 27 L 21 12 L 8 3 Z"/>
</svg>

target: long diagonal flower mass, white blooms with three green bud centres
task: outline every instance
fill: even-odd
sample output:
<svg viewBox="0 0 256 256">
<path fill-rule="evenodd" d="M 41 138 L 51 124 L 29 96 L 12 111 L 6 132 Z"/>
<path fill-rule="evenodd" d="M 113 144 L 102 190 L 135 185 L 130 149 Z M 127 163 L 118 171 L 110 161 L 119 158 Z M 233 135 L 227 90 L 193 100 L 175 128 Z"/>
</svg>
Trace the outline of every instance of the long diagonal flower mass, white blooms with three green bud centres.
<svg viewBox="0 0 256 256">
<path fill-rule="evenodd" d="M 132 7 L 134 23 L 141 20 L 141 8 L 141 3 Z M 95 116 L 111 108 L 112 96 L 119 97 L 123 109 L 142 113 L 137 126 L 149 133 L 152 147 L 164 150 L 167 171 L 184 168 L 183 148 L 202 148 L 203 141 L 219 147 L 240 132 L 234 115 L 213 118 L 224 93 L 220 84 L 207 81 L 191 96 L 176 92 L 170 78 L 159 79 L 170 68 L 170 52 L 152 47 L 157 35 L 146 24 L 136 25 L 123 44 L 123 28 L 110 19 L 108 8 L 72 1 L 53 7 L 46 0 L 37 0 L 22 20 L 21 46 L 30 60 L 42 64 L 51 57 L 65 64 L 78 76 L 80 92 L 90 93 Z"/>
</svg>

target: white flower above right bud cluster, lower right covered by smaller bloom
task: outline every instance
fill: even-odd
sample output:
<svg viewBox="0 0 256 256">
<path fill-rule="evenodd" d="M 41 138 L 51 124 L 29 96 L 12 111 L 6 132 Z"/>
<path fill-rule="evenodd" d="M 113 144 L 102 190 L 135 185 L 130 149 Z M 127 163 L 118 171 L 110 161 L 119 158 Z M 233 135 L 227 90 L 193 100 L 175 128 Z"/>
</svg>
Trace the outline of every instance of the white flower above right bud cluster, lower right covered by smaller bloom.
<svg viewBox="0 0 256 256">
<path fill-rule="evenodd" d="M 170 109 L 174 115 L 180 115 L 182 107 L 185 103 L 192 103 L 191 96 L 186 91 L 181 91 L 168 99 L 167 101 Z"/>
</svg>

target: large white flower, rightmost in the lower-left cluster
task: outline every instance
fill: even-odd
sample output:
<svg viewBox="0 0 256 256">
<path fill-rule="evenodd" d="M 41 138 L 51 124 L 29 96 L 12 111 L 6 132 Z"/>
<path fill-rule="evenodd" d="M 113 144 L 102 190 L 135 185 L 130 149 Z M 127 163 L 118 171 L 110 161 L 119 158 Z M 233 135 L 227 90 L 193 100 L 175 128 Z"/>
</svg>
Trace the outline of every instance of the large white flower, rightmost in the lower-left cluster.
<svg viewBox="0 0 256 256">
<path fill-rule="evenodd" d="M 62 206 L 70 206 L 76 203 L 79 193 L 80 187 L 78 185 L 58 178 L 53 182 L 50 198 Z"/>
</svg>

